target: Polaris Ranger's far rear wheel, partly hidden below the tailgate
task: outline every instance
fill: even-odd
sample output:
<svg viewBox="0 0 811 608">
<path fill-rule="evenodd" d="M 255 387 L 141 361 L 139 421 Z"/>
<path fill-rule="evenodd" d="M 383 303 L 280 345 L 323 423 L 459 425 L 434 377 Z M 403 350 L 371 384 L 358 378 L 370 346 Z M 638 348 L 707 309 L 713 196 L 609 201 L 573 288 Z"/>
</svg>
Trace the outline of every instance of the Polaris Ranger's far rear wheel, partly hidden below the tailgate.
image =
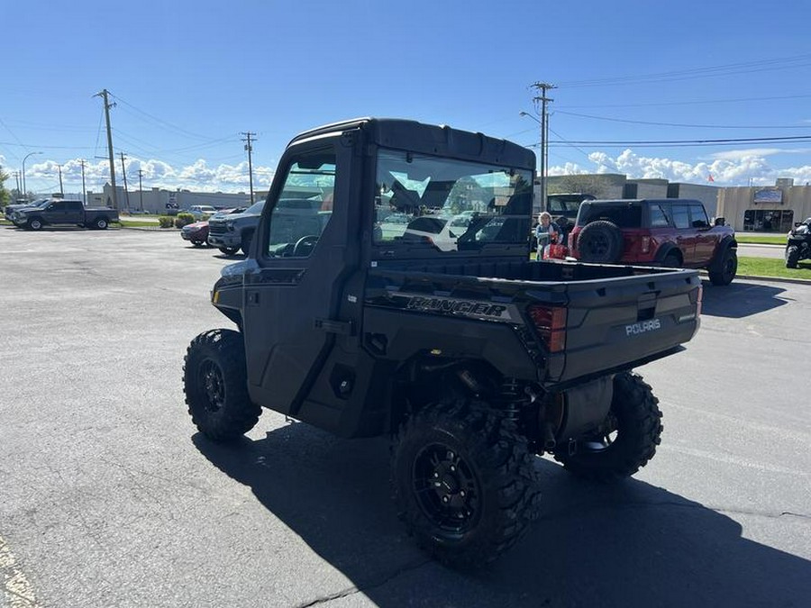
<svg viewBox="0 0 811 608">
<path fill-rule="evenodd" d="M 632 476 L 656 454 L 661 443 L 659 400 L 642 377 L 630 372 L 614 377 L 614 397 L 600 429 L 577 442 L 574 454 L 555 459 L 570 473 L 600 482 Z"/>
</svg>

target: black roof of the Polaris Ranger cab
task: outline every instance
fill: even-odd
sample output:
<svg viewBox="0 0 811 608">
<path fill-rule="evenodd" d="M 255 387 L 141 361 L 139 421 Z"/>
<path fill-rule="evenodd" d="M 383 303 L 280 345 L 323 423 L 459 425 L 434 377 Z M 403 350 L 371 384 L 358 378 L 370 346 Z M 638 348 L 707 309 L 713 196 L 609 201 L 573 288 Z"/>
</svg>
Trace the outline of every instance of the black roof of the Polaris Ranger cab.
<svg viewBox="0 0 811 608">
<path fill-rule="evenodd" d="M 424 154 L 480 160 L 513 168 L 534 170 L 535 154 L 513 141 L 462 131 L 447 125 L 418 123 L 399 118 L 355 118 L 326 124 L 299 133 L 290 144 L 313 137 L 360 130 L 380 146 Z"/>
</svg>

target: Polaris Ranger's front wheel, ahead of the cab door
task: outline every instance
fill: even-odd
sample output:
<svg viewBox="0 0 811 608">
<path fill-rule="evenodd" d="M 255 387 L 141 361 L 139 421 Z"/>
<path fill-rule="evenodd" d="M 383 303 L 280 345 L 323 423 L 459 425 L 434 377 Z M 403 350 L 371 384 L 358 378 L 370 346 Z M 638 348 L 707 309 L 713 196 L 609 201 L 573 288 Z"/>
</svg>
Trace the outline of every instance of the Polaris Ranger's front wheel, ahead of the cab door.
<svg viewBox="0 0 811 608">
<path fill-rule="evenodd" d="M 197 429 L 214 441 L 234 440 L 259 421 L 248 395 L 245 347 L 239 331 L 212 330 L 189 344 L 183 391 Z"/>
</svg>

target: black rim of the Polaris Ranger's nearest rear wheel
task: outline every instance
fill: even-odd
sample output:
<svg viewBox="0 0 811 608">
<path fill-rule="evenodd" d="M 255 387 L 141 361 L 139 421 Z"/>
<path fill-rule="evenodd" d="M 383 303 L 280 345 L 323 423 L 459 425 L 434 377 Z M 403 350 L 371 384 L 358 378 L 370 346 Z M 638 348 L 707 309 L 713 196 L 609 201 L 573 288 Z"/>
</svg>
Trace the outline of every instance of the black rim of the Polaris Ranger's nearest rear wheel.
<svg viewBox="0 0 811 608">
<path fill-rule="evenodd" d="M 425 516 L 442 531 L 463 534 L 478 520 L 481 497 L 469 464 L 453 449 L 433 443 L 414 461 L 414 491 Z"/>
</svg>

